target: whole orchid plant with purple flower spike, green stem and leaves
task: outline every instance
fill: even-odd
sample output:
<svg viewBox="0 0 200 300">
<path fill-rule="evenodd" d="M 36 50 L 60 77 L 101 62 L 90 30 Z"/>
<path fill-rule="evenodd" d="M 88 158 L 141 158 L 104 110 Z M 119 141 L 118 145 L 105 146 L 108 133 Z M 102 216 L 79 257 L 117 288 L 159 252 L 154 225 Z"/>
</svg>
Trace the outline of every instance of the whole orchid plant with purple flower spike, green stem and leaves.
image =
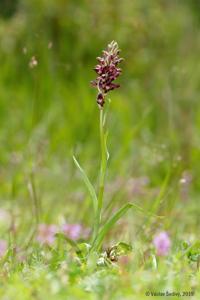
<svg viewBox="0 0 200 300">
<path fill-rule="evenodd" d="M 102 225 L 102 208 L 104 203 L 104 189 L 105 189 L 105 179 L 106 179 L 106 169 L 107 162 L 109 159 L 109 152 L 107 149 L 107 136 L 108 131 L 106 130 L 106 114 L 104 113 L 104 107 L 107 102 L 107 95 L 110 91 L 119 88 L 120 85 L 114 81 L 122 73 L 119 64 L 123 61 L 123 58 L 119 56 L 120 49 L 117 42 L 112 41 L 108 44 L 107 49 L 103 50 L 101 57 L 97 57 L 98 64 L 94 68 L 97 73 L 97 78 L 91 82 L 92 86 L 97 89 L 97 104 L 99 107 L 99 131 L 100 131 L 100 145 L 101 145 L 101 166 L 99 175 L 99 190 L 96 193 L 94 186 L 87 177 L 85 171 L 80 166 L 79 162 L 73 156 L 74 162 L 82 174 L 83 180 L 86 187 L 90 193 L 93 210 L 94 210 L 94 224 L 93 224 L 93 234 L 91 238 L 91 245 L 87 247 L 88 252 L 99 252 L 102 247 L 103 240 L 110 229 L 117 223 L 117 221 L 130 209 L 135 208 L 136 210 L 142 212 L 143 209 L 138 207 L 133 203 L 127 203 L 117 212 L 115 212 L 107 222 Z M 119 243 L 113 246 L 116 255 L 119 253 L 126 253 L 131 250 L 131 246 L 126 243 Z M 119 251 L 118 251 L 119 250 Z M 111 249 L 112 251 L 112 249 Z"/>
</svg>

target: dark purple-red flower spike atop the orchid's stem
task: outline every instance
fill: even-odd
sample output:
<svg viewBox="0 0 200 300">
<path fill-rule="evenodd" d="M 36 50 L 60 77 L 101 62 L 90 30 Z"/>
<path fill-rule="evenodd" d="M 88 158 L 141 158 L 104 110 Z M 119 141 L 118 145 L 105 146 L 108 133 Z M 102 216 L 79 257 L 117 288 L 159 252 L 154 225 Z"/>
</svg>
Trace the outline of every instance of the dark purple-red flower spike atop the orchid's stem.
<svg viewBox="0 0 200 300">
<path fill-rule="evenodd" d="M 102 57 L 97 57 L 99 63 L 94 68 L 94 71 L 98 74 L 98 77 L 91 83 L 98 89 L 97 103 L 100 108 L 104 106 L 106 94 L 120 87 L 119 84 L 113 83 L 122 72 L 118 68 L 118 64 L 123 60 L 123 58 L 119 57 L 119 53 L 117 42 L 112 41 L 108 44 L 107 49 L 103 50 Z"/>
</svg>

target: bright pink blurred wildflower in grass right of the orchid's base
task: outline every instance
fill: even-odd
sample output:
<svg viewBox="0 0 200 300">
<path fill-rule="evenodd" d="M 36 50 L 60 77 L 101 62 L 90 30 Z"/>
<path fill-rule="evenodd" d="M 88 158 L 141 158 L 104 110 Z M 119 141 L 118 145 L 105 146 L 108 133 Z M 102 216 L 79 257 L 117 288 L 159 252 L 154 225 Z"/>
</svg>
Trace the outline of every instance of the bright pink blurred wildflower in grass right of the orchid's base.
<svg viewBox="0 0 200 300">
<path fill-rule="evenodd" d="M 153 239 L 153 244 L 158 256 L 167 255 L 171 246 L 171 241 L 167 232 L 163 231 L 158 233 Z"/>
</svg>

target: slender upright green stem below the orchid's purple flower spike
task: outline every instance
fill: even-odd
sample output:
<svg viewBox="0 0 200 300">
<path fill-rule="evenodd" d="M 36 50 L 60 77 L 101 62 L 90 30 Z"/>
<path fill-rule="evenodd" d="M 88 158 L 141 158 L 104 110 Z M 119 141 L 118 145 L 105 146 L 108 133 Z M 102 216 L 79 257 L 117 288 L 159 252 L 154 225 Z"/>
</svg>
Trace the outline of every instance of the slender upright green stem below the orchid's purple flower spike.
<svg viewBox="0 0 200 300">
<path fill-rule="evenodd" d="M 100 129 L 100 145 L 101 145 L 101 167 L 100 167 L 100 179 L 99 179 L 98 208 L 95 216 L 93 242 L 95 241 L 98 235 L 99 227 L 101 224 L 101 211 L 103 206 L 105 176 L 106 176 L 106 167 L 107 167 L 107 150 L 106 150 L 106 141 L 105 141 L 105 133 L 104 133 L 103 109 L 100 109 L 99 129 Z"/>
</svg>

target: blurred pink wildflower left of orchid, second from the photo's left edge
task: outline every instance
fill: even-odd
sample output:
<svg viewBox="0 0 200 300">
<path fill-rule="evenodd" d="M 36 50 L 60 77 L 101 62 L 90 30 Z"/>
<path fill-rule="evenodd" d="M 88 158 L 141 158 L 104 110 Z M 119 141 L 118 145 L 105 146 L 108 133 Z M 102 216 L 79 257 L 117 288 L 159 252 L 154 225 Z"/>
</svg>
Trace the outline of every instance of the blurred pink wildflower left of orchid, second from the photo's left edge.
<svg viewBox="0 0 200 300">
<path fill-rule="evenodd" d="M 52 245 L 55 241 L 55 234 L 57 233 L 56 225 L 40 224 L 38 226 L 37 241 L 41 244 Z"/>
</svg>

